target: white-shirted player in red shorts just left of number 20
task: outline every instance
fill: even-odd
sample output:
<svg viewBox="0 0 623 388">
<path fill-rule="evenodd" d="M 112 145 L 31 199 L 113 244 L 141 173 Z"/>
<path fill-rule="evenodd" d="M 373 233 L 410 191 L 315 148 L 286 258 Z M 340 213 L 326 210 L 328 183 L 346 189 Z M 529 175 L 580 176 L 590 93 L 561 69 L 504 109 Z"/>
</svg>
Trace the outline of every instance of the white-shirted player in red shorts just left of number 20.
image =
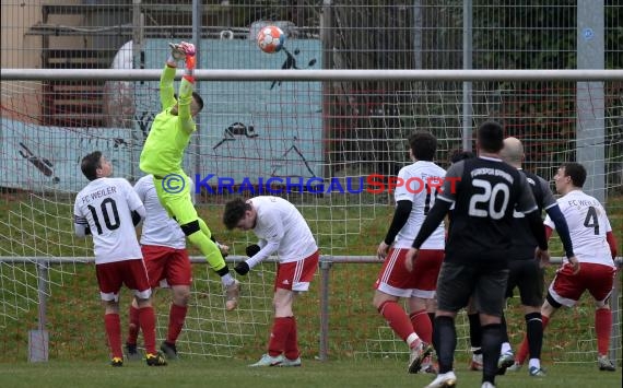
<svg viewBox="0 0 623 388">
<path fill-rule="evenodd" d="M 437 187 L 430 187 L 428 184 L 436 183 L 440 186 L 446 171 L 433 163 L 437 139 L 431 133 L 413 134 L 409 138 L 409 145 L 414 163 L 402 167 L 398 177 L 402 181 L 411 179 L 427 184 L 424 188 L 413 187 L 411 190 L 407 185 L 396 188 L 393 220 L 377 249 L 378 258 L 385 259 L 385 262 L 374 284 L 376 291 L 373 304 L 389 327 L 409 345 L 411 353 L 408 372 L 434 373 L 428 355 L 433 351 L 433 325 L 426 306 L 434 301 L 437 275 L 444 260 L 444 224 L 439 223 L 424 242 L 413 268 L 405 267 L 404 255 L 435 203 Z M 400 297 L 409 299 L 409 316 L 398 303 Z"/>
</svg>

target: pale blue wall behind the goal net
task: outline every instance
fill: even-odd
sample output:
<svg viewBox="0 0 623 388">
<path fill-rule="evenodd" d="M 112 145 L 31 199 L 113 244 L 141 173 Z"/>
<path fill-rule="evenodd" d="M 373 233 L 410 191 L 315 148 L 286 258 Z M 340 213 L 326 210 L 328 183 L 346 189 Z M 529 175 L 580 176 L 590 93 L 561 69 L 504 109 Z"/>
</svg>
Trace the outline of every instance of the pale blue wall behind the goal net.
<svg viewBox="0 0 623 388">
<path fill-rule="evenodd" d="M 168 40 L 148 39 L 146 69 L 161 69 Z M 251 40 L 203 40 L 199 69 L 320 69 L 319 40 L 286 42 L 291 52 L 262 52 Z M 296 71 L 290 70 L 289 71 Z M 176 83 L 177 87 L 178 83 Z M 126 84 L 128 86 L 128 84 Z M 160 113 L 157 82 L 130 83 L 131 128 L 60 128 L 2 118 L 0 186 L 30 190 L 80 190 L 87 180 L 80 160 L 101 150 L 113 161 L 115 176 L 141 175 L 138 161 L 153 117 Z M 111 87 L 113 92 L 119 89 Z M 133 97 L 132 97 L 132 91 Z M 240 183 L 262 177 L 321 176 L 322 109 L 320 82 L 197 82 L 205 103 L 198 118 L 200 165 L 196 149 L 186 172 L 232 177 Z M 113 93 L 111 99 L 120 92 Z M 113 105 L 113 113 L 121 108 Z"/>
</svg>

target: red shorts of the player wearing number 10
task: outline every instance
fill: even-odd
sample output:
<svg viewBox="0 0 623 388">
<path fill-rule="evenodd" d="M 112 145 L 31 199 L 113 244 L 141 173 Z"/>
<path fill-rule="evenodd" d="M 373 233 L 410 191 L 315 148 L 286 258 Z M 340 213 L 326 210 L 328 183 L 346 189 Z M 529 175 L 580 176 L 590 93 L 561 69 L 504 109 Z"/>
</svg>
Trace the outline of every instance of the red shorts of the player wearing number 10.
<svg viewBox="0 0 623 388">
<path fill-rule="evenodd" d="M 124 284 L 142 299 L 149 298 L 152 294 L 148 271 L 142 259 L 96 264 L 95 273 L 103 301 L 118 302 L 119 291 Z"/>
</svg>

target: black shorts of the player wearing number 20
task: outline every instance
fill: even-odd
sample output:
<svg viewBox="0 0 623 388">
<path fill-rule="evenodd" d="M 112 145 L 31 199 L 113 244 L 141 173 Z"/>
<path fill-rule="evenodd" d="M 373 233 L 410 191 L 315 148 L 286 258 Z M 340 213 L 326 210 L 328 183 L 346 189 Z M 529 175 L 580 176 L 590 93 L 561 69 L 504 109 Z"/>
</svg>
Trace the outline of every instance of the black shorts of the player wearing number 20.
<svg viewBox="0 0 623 388">
<path fill-rule="evenodd" d="M 437 309 L 458 311 L 473 295 L 482 314 L 502 317 L 508 269 L 444 261 L 437 281 Z"/>
</svg>

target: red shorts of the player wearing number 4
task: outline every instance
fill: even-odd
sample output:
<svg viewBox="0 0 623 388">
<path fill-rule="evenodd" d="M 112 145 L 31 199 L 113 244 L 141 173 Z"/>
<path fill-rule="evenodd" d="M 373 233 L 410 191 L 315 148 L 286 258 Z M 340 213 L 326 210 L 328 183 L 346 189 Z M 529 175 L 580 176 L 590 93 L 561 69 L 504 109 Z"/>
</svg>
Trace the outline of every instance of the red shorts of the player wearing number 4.
<svg viewBox="0 0 623 388">
<path fill-rule="evenodd" d="M 550 295 L 563 306 L 574 306 L 588 290 L 597 302 L 604 302 L 612 293 L 616 270 L 613 267 L 592 262 L 580 262 L 579 272 L 573 274 L 572 267 L 565 264 L 556 271 Z"/>
</svg>

